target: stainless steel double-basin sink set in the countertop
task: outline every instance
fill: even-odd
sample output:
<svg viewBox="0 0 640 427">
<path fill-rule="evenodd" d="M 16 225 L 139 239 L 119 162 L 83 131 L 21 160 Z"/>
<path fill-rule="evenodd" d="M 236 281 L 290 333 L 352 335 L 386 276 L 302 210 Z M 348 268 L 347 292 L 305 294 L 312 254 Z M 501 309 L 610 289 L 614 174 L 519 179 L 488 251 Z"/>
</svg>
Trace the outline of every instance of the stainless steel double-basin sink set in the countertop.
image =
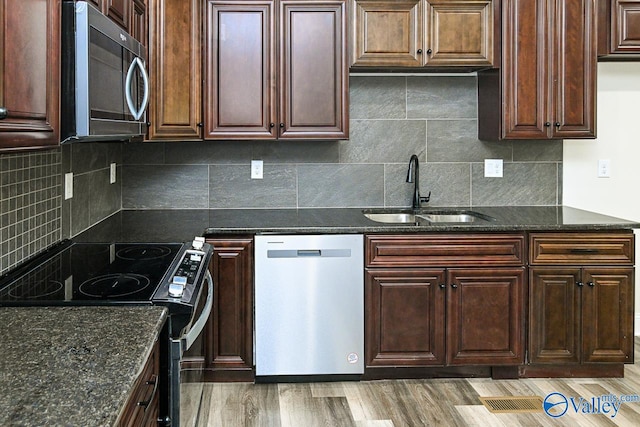
<svg viewBox="0 0 640 427">
<path fill-rule="evenodd" d="M 478 212 L 468 210 L 442 210 L 442 211 L 364 211 L 364 216 L 372 221 L 390 224 L 420 224 L 420 223 L 444 223 L 460 224 L 493 221 L 494 218 Z"/>
</svg>

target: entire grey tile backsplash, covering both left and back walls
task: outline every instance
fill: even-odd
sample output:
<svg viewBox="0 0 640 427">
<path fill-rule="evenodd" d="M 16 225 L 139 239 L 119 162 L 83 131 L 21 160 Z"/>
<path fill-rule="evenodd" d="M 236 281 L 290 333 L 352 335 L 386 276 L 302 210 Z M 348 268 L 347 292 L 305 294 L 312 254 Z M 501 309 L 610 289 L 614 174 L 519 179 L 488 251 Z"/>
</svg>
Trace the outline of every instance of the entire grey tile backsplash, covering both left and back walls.
<svg viewBox="0 0 640 427">
<path fill-rule="evenodd" d="M 0 154 L 0 274 L 120 209 L 557 205 L 562 141 L 480 141 L 475 75 L 353 75 L 348 141 L 74 143 Z M 252 159 L 264 178 L 250 179 Z M 484 159 L 504 161 L 484 177 Z M 116 163 L 116 183 L 109 182 Z M 74 197 L 63 200 L 64 174 Z"/>
</svg>

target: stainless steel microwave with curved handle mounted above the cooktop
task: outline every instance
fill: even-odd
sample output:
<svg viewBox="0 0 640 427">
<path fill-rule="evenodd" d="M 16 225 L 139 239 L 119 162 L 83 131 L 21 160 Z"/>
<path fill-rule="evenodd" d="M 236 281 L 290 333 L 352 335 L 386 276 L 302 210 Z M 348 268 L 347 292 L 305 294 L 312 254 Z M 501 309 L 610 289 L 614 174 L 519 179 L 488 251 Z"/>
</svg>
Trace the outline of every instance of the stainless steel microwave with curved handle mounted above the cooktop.
<svg viewBox="0 0 640 427">
<path fill-rule="evenodd" d="M 122 141 L 147 131 L 146 48 L 85 1 L 62 6 L 61 140 Z"/>
</svg>

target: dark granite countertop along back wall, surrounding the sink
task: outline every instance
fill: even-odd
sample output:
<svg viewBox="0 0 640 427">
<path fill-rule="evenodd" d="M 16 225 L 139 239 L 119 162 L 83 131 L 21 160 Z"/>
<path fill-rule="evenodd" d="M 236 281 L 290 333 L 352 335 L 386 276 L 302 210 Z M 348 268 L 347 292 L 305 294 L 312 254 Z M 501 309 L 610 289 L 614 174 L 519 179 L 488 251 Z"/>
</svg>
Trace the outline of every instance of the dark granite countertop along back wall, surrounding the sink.
<svg viewBox="0 0 640 427">
<path fill-rule="evenodd" d="M 376 208 L 376 211 L 385 211 Z M 431 208 L 425 212 L 469 210 Z M 78 242 L 182 242 L 200 235 L 260 233 L 420 233 L 473 231 L 598 231 L 640 228 L 640 223 L 566 206 L 472 208 L 492 221 L 459 224 L 385 224 L 361 208 L 122 210 L 86 232 Z"/>
</svg>

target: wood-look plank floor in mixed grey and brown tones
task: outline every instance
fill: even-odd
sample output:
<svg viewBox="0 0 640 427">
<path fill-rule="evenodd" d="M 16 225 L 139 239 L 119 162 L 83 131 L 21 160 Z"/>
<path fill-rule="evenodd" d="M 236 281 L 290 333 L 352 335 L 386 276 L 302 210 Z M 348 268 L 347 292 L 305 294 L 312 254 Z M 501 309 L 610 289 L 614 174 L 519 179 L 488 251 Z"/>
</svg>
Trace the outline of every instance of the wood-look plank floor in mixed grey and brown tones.
<svg viewBox="0 0 640 427">
<path fill-rule="evenodd" d="M 635 341 L 636 360 L 640 339 Z M 576 402 L 613 394 L 640 395 L 640 361 L 621 379 L 425 379 L 335 383 L 187 384 L 184 426 L 640 426 L 640 398 L 612 414 L 493 414 L 479 396 L 540 396 L 559 392 Z M 571 405 L 571 403 L 570 403 Z"/>
</svg>

